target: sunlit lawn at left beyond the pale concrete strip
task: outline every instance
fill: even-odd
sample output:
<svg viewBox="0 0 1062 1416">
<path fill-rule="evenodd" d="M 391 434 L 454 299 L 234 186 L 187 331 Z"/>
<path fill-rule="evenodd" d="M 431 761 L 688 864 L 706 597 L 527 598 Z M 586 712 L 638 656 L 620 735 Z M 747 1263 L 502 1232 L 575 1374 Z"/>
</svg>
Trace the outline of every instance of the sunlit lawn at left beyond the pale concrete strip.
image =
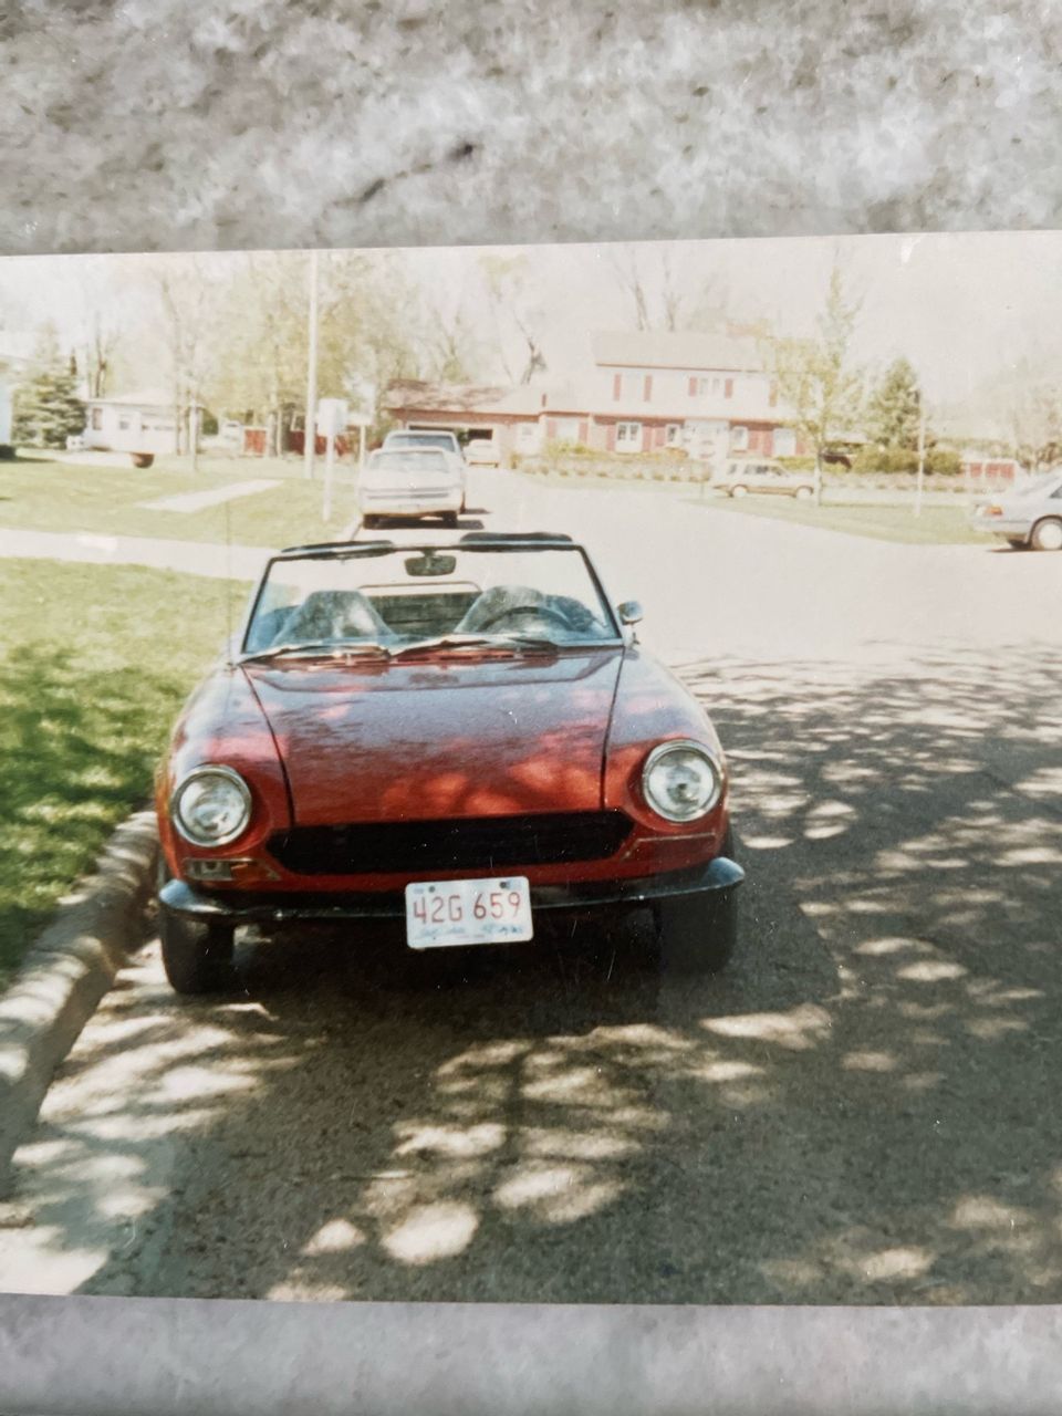
<svg viewBox="0 0 1062 1416">
<path fill-rule="evenodd" d="M 44 455 L 41 455 L 44 459 Z M 193 473 L 184 459 L 161 457 L 146 470 L 34 460 L 31 455 L 0 462 L 0 527 L 34 531 L 91 531 L 101 535 L 159 537 L 166 541 L 231 539 L 236 545 L 297 545 L 338 537 L 354 515 L 354 489 L 333 487 L 331 518 L 321 520 L 323 463 L 316 481 L 304 481 L 302 463 L 258 457 L 200 459 Z M 208 491 L 231 481 L 279 479 L 256 491 L 201 511 L 149 511 L 159 497 Z"/>
</svg>

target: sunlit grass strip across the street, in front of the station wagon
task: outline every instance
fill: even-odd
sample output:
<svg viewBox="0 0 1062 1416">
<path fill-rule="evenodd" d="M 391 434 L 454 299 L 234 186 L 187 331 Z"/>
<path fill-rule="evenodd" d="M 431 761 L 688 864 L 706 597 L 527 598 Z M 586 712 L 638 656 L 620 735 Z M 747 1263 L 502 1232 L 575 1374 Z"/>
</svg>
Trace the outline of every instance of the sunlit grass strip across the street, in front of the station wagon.
<svg viewBox="0 0 1062 1416">
<path fill-rule="evenodd" d="M 903 541 L 909 545 L 986 545 L 988 541 L 970 525 L 964 504 L 923 506 L 919 517 L 909 504 L 875 506 L 865 501 L 826 501 L 817 507 L 792 497 L 749 496 L 735 501 L 731 497 L 708 496 L 701 504 L 724 515 L 773 517 L 776 521 L 826 527 L 827 531 L 844 531 L 874 541 Z"/>
</svg>

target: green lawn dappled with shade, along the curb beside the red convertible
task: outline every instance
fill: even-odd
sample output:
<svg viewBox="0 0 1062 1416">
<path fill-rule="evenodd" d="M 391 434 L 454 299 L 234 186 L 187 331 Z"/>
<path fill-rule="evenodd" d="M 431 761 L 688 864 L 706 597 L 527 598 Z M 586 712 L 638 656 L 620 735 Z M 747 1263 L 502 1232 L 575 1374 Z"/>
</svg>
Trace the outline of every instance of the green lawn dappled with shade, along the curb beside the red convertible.
<svg viewBox="0 0 1062 1416">
<path fill-rule="evenodd" d="M 235 586 L 236 613 L 246 586 Z M 152 792 L 227 586 L 135 566 L 0 562 L 0 987 Z"/>
</svg>

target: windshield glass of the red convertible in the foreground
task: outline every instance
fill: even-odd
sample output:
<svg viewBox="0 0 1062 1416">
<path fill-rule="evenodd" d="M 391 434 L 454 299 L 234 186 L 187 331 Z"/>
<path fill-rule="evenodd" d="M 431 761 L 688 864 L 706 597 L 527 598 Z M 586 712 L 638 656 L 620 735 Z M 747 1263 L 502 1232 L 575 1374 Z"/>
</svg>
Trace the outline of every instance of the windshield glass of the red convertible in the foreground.
<svg viewBox="0 0 1062 1416">
<path fill-rule="evenodd" d="M 619 639 L 579 547 L 367 545 L 270 562 L 242 650 L 399 653 L 430 640 L 439 651 L 562 649 Z"/>
</svg>

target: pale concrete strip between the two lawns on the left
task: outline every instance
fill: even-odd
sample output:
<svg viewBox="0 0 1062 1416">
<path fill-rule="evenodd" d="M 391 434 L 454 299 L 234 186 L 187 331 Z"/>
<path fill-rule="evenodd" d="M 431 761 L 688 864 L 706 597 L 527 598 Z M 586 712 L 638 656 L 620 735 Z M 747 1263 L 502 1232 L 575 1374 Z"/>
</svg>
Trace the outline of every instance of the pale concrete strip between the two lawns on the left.
<svg viewBox="0 0 1062 1416">
<path fill-rule="evenodd" d="M 273 551 L 261 545 L 163 541 L 153 537 L 93 535 L 88 531 L 23 531 L 0 527 L 0 556 L 85 561 L 91 565 L 147 565 L 218 581 L 255 581 Z"/>
</svg>

